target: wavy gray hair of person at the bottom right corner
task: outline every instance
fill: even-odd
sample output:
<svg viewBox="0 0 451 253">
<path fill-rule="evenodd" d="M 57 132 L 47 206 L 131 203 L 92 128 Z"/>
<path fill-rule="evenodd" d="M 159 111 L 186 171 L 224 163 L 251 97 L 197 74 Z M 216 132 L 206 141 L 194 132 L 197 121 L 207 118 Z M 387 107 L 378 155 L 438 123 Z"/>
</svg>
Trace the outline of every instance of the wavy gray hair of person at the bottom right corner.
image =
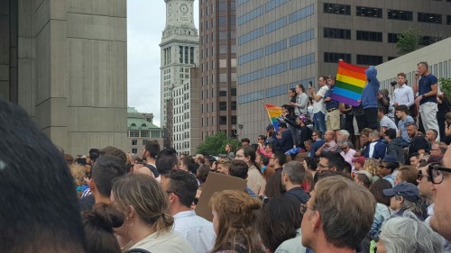
<svg viewBox="0 0 451 253">
<path fill-rule="evenodd" d="M 441 237 L 409 211 L 385 221 L 379 239 L 391 253 L 443 252 Z"/>
</svg>

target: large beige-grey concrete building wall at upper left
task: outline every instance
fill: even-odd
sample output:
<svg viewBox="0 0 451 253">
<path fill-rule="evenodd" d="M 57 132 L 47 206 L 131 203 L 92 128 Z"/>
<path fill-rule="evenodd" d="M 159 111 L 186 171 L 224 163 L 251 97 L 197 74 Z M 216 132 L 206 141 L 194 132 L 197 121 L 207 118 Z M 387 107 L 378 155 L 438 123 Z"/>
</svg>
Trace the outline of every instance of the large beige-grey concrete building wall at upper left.
<svg viewBox="0 0 451 253">
<path fill-rule="evenodd" d="M 18 0 L 19 101 L 71 154 L 126 140 L 126 0 Z"/>
</svg>

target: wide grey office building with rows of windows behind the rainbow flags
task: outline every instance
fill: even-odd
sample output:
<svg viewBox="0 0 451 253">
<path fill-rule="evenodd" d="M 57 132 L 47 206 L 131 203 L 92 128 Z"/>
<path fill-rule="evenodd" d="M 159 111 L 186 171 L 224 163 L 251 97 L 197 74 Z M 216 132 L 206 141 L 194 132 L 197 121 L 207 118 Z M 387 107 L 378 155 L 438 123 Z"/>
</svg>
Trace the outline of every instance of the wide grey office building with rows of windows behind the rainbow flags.
<svg viewBox="0 0 451 253">
<path fill-rule="evenodd" d="M 308 89 L 319 76 L 335 75 L 338 59 L 361 66 L 394 59 L 398 34 L 409 28 L 419 32 L 420 45 L 449 37 L 449 8 L 451 0 L 238 0 L 237 107 L 242 134 L 253 140 L 264 133 L 269 119 L 262 103 L 287 104 L 290 87 L 302 84 Z"/>
</svg>

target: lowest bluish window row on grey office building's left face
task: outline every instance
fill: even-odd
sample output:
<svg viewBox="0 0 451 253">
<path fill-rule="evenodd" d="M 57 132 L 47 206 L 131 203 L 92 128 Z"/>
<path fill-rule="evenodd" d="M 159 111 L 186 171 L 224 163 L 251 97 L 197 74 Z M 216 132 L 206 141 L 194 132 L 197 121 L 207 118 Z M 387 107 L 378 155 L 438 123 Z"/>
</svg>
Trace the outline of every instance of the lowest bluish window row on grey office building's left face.
<svg viewBox="0 0 451 253">
<path fill-rule="evenodd" d="M 263 77 L 269 77 L 272 75 L 279 74 L 281 72 L 287 71 L 288 69 L 301 68 L 313 64 L 314 62 L 315 62 L 315 54 L 313 53 L 303 57 L 299 57 L 297 59 L 291 59 L 289 62 L 290 65 L 287 64 L 288 62 L 284 62 L 274 65 L 270 68 L 256 70 L 251 73 L 245 74 L 241 77 L 238 77 L 238 84 L 243 85 L 245 83 L 252 82 L 254 80 L 258 80 Z"/>
</svg>

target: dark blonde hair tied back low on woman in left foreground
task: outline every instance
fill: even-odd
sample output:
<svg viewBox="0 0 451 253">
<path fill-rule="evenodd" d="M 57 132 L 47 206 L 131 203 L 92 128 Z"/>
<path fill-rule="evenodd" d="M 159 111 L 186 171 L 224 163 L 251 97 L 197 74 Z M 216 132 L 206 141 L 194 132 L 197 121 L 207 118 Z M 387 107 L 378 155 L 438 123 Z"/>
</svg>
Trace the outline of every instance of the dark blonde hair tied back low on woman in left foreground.
<svg viewBox="0 0 451 253">
<path fill-rule="evenodd" d="M 115 178 L 112 190 L 120 208 L 133 206 L 143 222 L 155 227 L 157 235 L 172 229 L 174 218 L 170 214 L 168 195 L 152 176 L 125 174 Z"/>
</svg>

